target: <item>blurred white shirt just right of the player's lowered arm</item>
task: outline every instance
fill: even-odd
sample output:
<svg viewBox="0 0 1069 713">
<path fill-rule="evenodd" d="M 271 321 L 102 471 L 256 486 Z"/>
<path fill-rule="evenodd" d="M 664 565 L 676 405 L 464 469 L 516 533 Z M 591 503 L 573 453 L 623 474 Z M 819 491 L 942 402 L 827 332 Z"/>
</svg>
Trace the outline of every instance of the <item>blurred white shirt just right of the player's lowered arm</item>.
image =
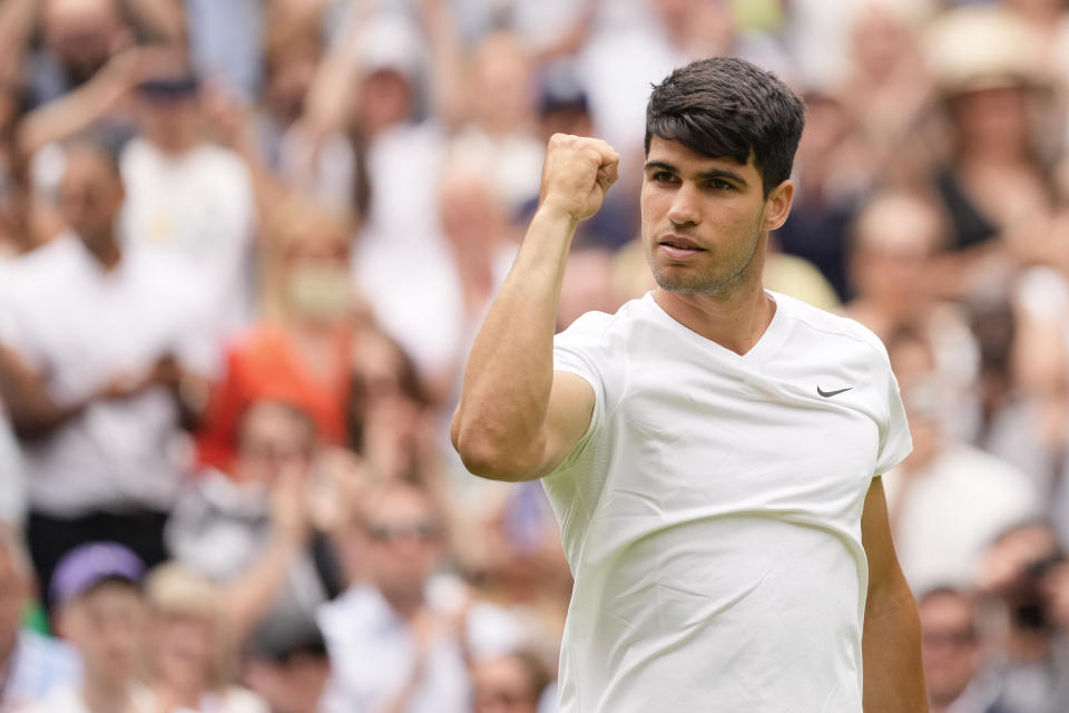
<svg viewBox="0 0 1069 713">
<path fill-rule="evenodd" d="M 887 507 L 898 511 L 895 551 L 918 595 L 936 586 L 975 584 L 994 538 L 1039 515 L 1028 476 L 964 443 L 948 445 L 916 473 L 889 472 L 884 482 Z"/>
</svg>

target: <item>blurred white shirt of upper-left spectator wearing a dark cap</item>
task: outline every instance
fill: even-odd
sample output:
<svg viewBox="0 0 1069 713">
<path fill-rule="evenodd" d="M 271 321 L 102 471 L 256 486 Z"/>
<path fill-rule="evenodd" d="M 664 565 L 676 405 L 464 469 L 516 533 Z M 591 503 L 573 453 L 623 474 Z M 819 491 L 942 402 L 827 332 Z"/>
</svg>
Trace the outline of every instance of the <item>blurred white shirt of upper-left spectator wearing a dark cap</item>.
<svg viewBox="0 0 1069 713">
<path fill-rule="evenodd" d="M 233 332 L 251 315 L 255 198 L 234 152 L 202 144 L 171 156 L 144 138 L 122 150 L 122 236 L 188 261 L 215 301 L 206 329 Z"/>
</svg>

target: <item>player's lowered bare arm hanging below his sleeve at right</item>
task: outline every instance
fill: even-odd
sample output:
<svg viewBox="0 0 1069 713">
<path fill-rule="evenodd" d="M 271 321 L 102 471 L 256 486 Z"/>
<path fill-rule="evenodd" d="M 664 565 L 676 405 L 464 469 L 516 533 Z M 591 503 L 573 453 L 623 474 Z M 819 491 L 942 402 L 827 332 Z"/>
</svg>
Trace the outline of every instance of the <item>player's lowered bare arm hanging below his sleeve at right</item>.
<svg viewBox="0 0 1069 713">
<path fill-rule="evenodd" d="M 883 481 L 874 478 L 861 516 L 869 558 L 862 636 L 865 713 L 928 713 L 916 604 L 894 555 Z"/>
</svg>

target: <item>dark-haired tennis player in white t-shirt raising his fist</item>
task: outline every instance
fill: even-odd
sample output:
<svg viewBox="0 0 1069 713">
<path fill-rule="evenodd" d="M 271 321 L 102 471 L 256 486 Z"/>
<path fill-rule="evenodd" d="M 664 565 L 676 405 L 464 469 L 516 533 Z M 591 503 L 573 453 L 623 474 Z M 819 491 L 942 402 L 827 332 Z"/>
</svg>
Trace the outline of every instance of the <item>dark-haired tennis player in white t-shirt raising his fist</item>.
<svg viewBox="0 0 1069 713">
<path fill-rule="evenodd" d="M 646 116 L 659 289 L 555 343 L 576 224 L 619 162 L 555 136 L 453 419 L 472 472 L 543 478 L 560 521 L 576 577 L 561 711 L 926 711 L 877 477 L 912 447 L 886 351 L 762 287 L 802 102 L 718 58 L 673 72 Z"/>
</svg>

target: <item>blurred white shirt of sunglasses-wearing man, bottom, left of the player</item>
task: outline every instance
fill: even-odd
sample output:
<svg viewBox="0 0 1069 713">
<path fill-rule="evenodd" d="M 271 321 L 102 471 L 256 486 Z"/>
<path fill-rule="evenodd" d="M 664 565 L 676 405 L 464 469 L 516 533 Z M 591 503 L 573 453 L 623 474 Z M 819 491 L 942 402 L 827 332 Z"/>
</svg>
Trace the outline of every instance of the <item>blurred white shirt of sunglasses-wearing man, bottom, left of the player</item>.
<svg viewBox="0 0 1069 713">
<path fill-rule="evenodd" d="M 437 577 L 428 586 L 428 604 L 448 613 L 460 606 L 455 583 Z M 404 687 L 415 663 L 415 641 L 408 623 L 377 589 L 351 588 L 323 605 L 320 628 L 331 655 L 330 696 L 344 701 L 350 713 L 374 713 Z M 475 604 L 468 615 L 468 646 L 475 658 L 514 651 L 522 644 L 520 625 L 498 607 Z M 460 642 L 440 636 L 431 644 L 422 685 L 405 713 L 468 713 L 470 680 Z M 332 710 L 334 710 L 332 707 Z"/>
</svg>

